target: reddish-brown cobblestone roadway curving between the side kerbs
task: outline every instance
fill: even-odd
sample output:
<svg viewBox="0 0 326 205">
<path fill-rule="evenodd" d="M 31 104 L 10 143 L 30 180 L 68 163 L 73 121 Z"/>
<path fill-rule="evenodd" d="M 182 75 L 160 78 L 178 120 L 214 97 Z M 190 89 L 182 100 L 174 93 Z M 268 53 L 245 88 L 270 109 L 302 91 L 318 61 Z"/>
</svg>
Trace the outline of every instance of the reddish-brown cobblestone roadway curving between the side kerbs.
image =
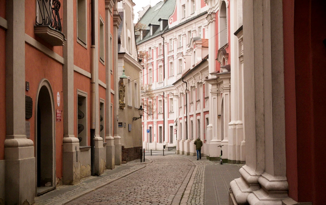
<svg viewBox="0 0 326 205">
<path fill-rule="evenodd" d="M 69 204 L 171 204 L 193 164 L 170 156 L 147 158 L 153 160 L 149 166 Z"/>
</svg>

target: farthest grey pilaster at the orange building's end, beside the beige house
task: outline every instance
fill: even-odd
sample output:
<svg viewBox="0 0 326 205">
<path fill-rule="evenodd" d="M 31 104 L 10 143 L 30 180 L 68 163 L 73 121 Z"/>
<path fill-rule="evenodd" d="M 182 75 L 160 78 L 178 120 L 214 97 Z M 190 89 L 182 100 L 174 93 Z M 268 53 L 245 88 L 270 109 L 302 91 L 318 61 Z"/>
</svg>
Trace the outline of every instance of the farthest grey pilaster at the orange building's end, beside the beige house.
<svg viewBox="0 0 326 205">
<path fill-rule="evenodd" d="M 118 28 L 121 23 L 121 17 L 117 11 L 117 4 L 113 10 L 113 79 L 116 95 L 114 95 L 114 113 L 118 114 L 119 95 L 118 95 Z M 115 165 L 121 164 L 121 137 L 118 135 L 118 121 L 114 119 L 114 162 Z"/>
</svg>

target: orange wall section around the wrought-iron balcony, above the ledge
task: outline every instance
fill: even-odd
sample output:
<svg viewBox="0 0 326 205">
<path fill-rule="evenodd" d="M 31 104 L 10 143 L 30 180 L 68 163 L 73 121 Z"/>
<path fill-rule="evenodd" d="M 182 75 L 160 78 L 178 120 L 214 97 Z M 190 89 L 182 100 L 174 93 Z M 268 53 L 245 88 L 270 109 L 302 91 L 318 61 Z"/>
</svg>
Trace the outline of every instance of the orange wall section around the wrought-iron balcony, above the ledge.
<svg viewBox="0 0 326 205">
<path fill-rule="evenodd" d="M 59 0 L 62 5 L 62 0 Z M 58 53 L 61 57 L 63 57 L 63 46 L 51 46 L 41 38 L 35 36 L 34 34 L 34 25 L 36 25 L 36 1 L 25 1 L 25 33 L 36 39 L 38 42 L 42 43 L 48 49 Z M 63 9 L 62 7 L 59 10 L 60 18 L 62 19 L 63 16 Z M 62 25 L 62 20 L 61 20 Z M 63 26 L 63 25 L 62 25 Z"/>
</svg>

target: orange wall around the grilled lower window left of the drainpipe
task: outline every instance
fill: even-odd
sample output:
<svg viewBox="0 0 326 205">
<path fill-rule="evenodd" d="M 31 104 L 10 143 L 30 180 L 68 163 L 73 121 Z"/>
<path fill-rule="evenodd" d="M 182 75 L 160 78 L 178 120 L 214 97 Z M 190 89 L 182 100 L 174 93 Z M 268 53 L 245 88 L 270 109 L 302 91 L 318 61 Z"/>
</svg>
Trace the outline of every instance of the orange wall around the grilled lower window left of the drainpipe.
<svg viewBox="0 0 326 205">
<path fill-rule="evenodd" d="M 89 83 L 87 83 L 89 82 Z M 87 93 L 87 145 L 91 145 L 90 128 L 91 128 L 91 79 L 74 72 L 74 135 L 78 135 L 77 126 L 77 89 Z M 85 128 L 86 129 L 86 128 Z"/>
</svg>

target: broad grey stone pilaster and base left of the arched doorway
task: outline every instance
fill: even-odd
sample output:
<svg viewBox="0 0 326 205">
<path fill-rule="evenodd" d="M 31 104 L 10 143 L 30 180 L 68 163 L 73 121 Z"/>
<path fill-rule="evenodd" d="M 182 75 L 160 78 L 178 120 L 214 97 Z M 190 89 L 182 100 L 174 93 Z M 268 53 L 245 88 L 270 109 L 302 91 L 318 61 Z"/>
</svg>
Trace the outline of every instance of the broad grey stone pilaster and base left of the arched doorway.
<svg viewBox="0 0 326 205">
<path fill-rule="evenodd" d="M 34 144 L 25 130 L 25 1 L 7 1 L 6 9 L 5 203 L 33 204 Z"/>
</svg>

